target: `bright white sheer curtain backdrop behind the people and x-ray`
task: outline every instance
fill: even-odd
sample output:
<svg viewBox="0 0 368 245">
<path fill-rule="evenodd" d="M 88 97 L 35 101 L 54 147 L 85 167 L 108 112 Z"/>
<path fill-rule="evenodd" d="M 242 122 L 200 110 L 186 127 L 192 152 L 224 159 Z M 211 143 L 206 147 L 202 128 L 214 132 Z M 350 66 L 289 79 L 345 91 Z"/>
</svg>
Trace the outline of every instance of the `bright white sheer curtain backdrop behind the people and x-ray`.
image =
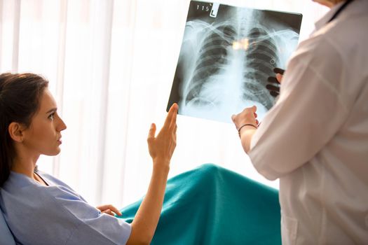
<svg viewBox="0 0 368 245">
<path fill-rule="evenodd" d="M 221 2 L 302 13 L 300 40 L 327 12 L 311 0 Z M 188 0 L 0 0 L 0 72 L 50 80 L 68 127 L 62 153 L 41 156 L 39 167 L 90 204 L 123 207 L 146 192 L 146 136 L 166 115 L 188 7 Z M 185 116 L 177 125 L 170 176 L 212 162 L 278 188 L 254 170 L 233 125 Z"/>
</svg>

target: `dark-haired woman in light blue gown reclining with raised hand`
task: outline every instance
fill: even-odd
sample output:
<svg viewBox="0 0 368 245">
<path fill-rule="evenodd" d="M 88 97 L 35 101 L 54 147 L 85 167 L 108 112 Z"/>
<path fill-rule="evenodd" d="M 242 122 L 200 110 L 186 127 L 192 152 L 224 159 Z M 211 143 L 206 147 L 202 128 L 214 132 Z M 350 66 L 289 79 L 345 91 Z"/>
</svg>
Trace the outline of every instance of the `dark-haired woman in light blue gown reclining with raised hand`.
<svg viewBox="0 0 368 245">
<path fill-rule="evenodd" d="M 170 159 L 176 146 L 177 104 L 156 136 L 149 188 L 134 221 L 125 223 L 111 205 L 92 207 L 78 193 L 39 172 L 41 154 L 57 155 L 67 126 L 57 114 L 48 81 L 32 73 L 0 75 L 0 207 L 21 244 L 149 244 L 161 214 Z"/>
</svg>

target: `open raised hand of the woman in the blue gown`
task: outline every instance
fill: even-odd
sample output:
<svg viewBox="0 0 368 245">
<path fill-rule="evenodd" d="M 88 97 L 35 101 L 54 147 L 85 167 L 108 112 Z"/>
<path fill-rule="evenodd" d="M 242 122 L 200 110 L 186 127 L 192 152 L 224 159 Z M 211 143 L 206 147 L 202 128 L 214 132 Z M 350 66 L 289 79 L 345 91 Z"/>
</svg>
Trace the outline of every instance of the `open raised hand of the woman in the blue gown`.
<svg viewBox="0 0 368 245">
<path fill-rule="evenodd" d="M 149 155 L 154 160 L 155 165 L 170 166 L 172 153 L 177 146 L 177 110 L 179 106 L 173 104 L 166 116 L 165 123 L 160 132 L 156 135 L 156 125 L 151 124 L 147 138 Z M 164 167 L 161 166 L 161 167 Z"/>
</svg>

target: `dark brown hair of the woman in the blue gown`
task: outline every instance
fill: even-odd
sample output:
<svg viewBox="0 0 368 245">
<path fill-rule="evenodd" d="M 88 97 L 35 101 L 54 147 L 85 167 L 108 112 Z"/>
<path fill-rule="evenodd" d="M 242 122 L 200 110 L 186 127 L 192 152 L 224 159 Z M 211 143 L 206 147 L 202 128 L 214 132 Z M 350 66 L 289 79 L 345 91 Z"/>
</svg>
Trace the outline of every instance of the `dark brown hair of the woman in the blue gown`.
<svg viewBox="0 0 368 245">
<path fill-rule="evenodd" d="M 13 122 L 31 125 L 46 87 L 48 80 L 33 73 L 0 74 L 0 187 L 8 179 L 15 158 L 8 127 Z"/>
</svg>

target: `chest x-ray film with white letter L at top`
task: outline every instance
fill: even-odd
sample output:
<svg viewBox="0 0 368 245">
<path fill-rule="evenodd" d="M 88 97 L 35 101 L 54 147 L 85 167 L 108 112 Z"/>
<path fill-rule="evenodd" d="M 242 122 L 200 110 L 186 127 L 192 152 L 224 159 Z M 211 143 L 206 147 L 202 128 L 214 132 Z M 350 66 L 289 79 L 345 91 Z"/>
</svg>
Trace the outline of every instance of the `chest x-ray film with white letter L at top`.
<svg viewBox="0 0 368 245">
<path fill-rule="evenodd" d="M 191 1 L 168 109 L 231 123 L 256 105 L 262 120 L 274 104 L 267 78 L 285 69 L 300 26 L 297 13 Z"/>
</svg>

